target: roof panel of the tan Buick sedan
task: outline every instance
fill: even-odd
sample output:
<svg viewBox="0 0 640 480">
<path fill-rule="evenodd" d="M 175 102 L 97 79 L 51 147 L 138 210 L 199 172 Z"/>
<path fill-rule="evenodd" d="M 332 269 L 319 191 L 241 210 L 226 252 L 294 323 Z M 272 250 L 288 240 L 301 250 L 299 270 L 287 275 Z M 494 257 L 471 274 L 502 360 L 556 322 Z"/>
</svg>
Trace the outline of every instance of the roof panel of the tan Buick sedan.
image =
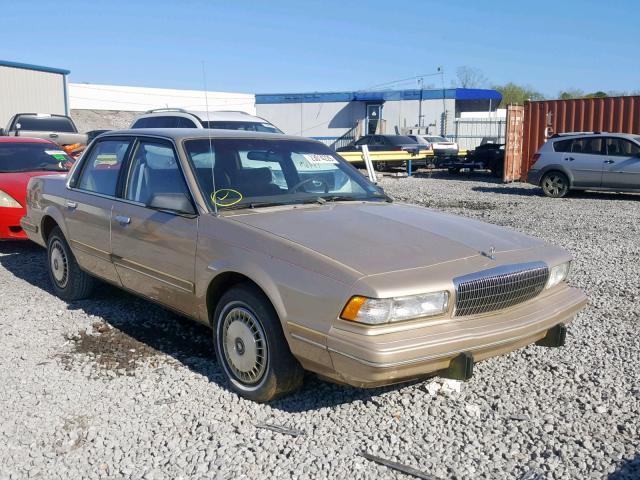
<svg viewBox="0 0 640 480">
<path fill-rule="evenodd" d="M 152 136 L 163 137 L 170 140 L 181 141 L 185 139 L 208 139 L 211 138 L 246 138 L 263 140 L 298 140 L 314 143 L 321 143 L 306 137 L 296 137 L 293 135 L 282 135 L 280 133 L 250 132 L 246 130 L 224 130 L 207 128 L 134 128 L 128 130 L 110 130 L 100 135 L 100 138 L 113 136 Z"/>
</svg>

